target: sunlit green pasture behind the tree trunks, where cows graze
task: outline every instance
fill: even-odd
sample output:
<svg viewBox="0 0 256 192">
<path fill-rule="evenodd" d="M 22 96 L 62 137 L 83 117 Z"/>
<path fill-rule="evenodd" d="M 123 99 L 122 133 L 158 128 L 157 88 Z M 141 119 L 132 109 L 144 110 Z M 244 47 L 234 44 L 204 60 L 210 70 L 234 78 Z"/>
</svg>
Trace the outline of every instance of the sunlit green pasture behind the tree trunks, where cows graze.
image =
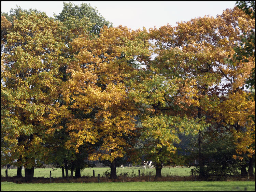
<svg viewBox="0 0 256 192">
<path fill-rule="evenodd" d="M 162 168 L 162 172 L 161 175 L 163 177 L 165 176 L 189 176 L 191 175 L 191 168 L 188 167 L 163 167 Z M 98 174 L 100 174 L 100 176 L 104 176 L 104 172 L 108 171 L 110 172 L 110 168 L 109 167 L 94 167 L 94 168 L 85 168 L 83 171 L 81 171 L 81 176 L 93 176 L 93 169 L 95 170 L 95 176 L 98 176 Z M 139 174 L 139 170 L 140 169 L 140 173 L 141 175 L 149 175 L 149 172 L 151 172 L 151 175 L 154 176 L 156 173 L 156 170 L 153 169 L 143 169 L 143 167 L 125 167 L 124 169 L 121 169 L 121 167 L 116 168 L 117 171 L 117 176 L 119 175 L 124 175 L 124 174 L 128 174 L 128 176 L 134 175 L 134 176 L 138 176 Z M 1 175 L 2 177 L 5 177 L 5 169 L 1 169 Z M 50 171 L 52 171 L 51 168 L 36 168 L 34 170 L 34 177 L 45 177 L 45 178 L 49 178 L 50 177 Z M 13 177 L 16 176 L 17 174 L 17 169 L 8 169 L 8 176 Z M 24 170 L 22 170 L 22 176 L 25 175 Z M 70 171 L 69 171 L 69 176 L 70 176 Z M 55 169 L 54 171 L 52 171 L 52 177 L 56 178 L 56 177 L 62 177 L 62 172 L 61 169 Z"/>
</svg>

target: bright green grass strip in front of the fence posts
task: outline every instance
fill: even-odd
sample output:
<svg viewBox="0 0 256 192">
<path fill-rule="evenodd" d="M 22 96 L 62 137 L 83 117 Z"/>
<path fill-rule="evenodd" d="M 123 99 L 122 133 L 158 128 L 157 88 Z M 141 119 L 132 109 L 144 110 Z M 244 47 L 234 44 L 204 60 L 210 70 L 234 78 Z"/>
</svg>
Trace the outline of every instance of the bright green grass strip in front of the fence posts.
<svg viewBox="0 0 256 192">
<path fill-rule="evenodd" d="M 173 181 L 105 183 L 1 182 L 1 191 L 255 191 L 255 181 Z"/>
</svg>

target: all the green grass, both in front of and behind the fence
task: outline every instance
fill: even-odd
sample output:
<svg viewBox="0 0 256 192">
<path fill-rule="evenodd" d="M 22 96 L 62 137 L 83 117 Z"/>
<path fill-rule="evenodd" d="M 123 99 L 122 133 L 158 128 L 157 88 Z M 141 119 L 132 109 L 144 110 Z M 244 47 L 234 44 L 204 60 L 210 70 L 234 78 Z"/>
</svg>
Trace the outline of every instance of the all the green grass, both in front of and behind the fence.
<svg viewBox="0 0 256 192">
<path fill-rule="evenodd" d="M 50 171 L 52 172 L 52 183 L 14 183 L 1 182 L 2 191 L 255 191 L 255 181 L 184 181 L 175 180 L 175 176 L 190 176 L 191 168 L 193 167 L 163 167 L 161 175 L 163 177 L 174 176 L 173 181 L 154 181 L 155 169 L 143 169 L 143 167 L 125 167 L 117 168 L 117 176 L 125 178 L 123 182 L 110 182 L 107 178 L 101 178 L 101 182 L 96 182 L 98 174 L 104 177 L 104 173 L 110 172 L 109 167 L 94 167 L 85 168 L 81 171 L 81 178 L 78 182 L 55 182 L 56 179 L 62 177 L 61 169 L 51 168 L 36 168 L 34 177 L 49 178 Z M 1 169 L 2 180 L 5 177 L 5 169 Z M 95 176 L 93 176 L 95 170 Z M 141 173 L 141 179 L 137 182 L 127 178 L 138 176 L 138 170 Z M 151 172 L 152 180 L 148 182 L 148 175 Z M 16 176 L 17 169 L 8 170 L 8 176 Z M 24 170 L 22 170 L 24 176 Z M 70 176 L 70 171 L 69 171 Z M 123 176 L 123 177 L 122 177 Z M 127 176 L 127 177 L 126 177 Z M 143 177 L 144 176 L 144 177 Z M 178 177 L 177 177 L 178 178 Z M 94 179 L 94 181 L 93 181 Z M 122 179 L 119 179 L 122 181 Z M 127 181 L 127 182 L 125 182 Z M 47 181 L 48 182 L 48 181 Z"/>
</svg>

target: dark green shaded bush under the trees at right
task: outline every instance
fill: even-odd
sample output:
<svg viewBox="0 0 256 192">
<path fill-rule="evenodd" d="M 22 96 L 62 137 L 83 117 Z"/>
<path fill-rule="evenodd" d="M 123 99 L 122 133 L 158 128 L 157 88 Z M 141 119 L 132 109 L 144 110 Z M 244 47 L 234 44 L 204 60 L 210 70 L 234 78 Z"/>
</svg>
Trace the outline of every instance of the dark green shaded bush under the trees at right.
<svg viewBox="0 0 256 192">
<path fill-rule="evenodd" d="M 234 139 L 231 135 L 220 134 L 204 141 L 201 158 L 204 163 L 204 174 L 209 179 L 225 179 L 227 176 L 240 174 L 240 168 L 246 164 L 248 157 L 244 155 L 242 161 L 234 159 L 233 155 L 237 155 Z M 189 159 L 198 159 L 198 153 L 192 153 Z M 195 168 L 196 173 L 200 173 L 199 164 Z"/>
</svg>

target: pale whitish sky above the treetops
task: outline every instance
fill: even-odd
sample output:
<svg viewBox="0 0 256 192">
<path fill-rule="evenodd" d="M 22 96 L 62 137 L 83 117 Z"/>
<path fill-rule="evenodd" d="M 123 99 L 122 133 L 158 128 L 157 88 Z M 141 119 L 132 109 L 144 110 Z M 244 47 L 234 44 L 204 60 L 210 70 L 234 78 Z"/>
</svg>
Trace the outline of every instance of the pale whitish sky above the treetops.
<svg viewBox="0 0 256 192">
<path fill-rule="evenodd" d="M 1 11 L 9 13 L 18 5 L 22 9 L 45 11 L 53 17 L 53 13 L 59 15 L 62 11 L 63 2 L 90 4 L 114 27 L 122 25 L 133 30 L 159 28 L 167 23 L 176 26 L 176 22 L 205 15 L 216 17 L 236 5 L 236 1 L 1 1 Z"/>
</svg>

